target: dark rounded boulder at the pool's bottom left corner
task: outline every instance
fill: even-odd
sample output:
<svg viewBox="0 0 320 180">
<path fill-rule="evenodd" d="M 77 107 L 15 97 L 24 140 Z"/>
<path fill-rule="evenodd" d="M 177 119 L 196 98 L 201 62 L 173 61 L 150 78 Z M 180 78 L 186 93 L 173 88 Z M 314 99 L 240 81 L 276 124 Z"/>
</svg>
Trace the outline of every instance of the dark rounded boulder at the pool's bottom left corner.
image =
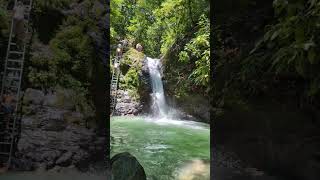
<svg viewBox="0 0 320 180">
<path fill-rule="evenodd" d="M 111 180 L 146 180 L 146 173 L 138 160 L 128 152 L 111 159 Z"/>
</svg>

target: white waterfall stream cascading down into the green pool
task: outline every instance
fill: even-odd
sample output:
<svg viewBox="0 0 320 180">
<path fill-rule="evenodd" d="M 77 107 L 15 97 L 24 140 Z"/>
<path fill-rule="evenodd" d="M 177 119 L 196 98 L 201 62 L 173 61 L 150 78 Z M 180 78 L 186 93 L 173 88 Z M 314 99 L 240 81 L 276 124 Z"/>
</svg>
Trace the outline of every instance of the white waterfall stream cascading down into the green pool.
<svg viewBox="0 0 320 180">
<path fill-rule="evenodd" d="M 152 84 L 152 110 L 154 115 L 165 117 L 167 114 L 167 105 L 164 97 L 163 84 L 160 73 L 160 59 L 147 57 L 149 74 Z"/>
</svg>

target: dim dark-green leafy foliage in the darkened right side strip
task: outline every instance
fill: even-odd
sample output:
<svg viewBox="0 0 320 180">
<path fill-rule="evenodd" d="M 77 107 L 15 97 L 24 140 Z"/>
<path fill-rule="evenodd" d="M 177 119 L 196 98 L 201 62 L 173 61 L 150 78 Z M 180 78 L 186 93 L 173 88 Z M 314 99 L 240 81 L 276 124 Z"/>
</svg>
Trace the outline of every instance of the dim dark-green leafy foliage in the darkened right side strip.
<svg viewBox="0 0 320 180">
<path fill-rule="evenodd" d="M 226 38 L 221 38 L 226 29 L 215 27 L 219 78 L 214 84 L 219 86 L 215 95 L 220 105 L 226 106 L 227 99 L 228 104 L 240 105 L 243 99 L 265 97 L 299 107 L 319 106 L 320 1 L 274 0 L 273 11 L 273 19 L 249 51 L 249 45 L 226 45 Z"/>
</svg>

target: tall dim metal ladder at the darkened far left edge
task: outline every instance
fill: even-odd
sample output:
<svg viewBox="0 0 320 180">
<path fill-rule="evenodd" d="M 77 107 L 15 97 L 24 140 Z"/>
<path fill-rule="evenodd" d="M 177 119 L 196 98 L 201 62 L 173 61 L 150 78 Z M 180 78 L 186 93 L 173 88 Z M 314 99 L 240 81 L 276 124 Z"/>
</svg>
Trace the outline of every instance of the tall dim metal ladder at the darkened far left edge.
<svg viewBox="0 0 320 180">
<path fill-rule="evenodd" d="M 19 0 L 15 0 L 17 4 Z M 1 97 L 10 94 L 15 100 L 13 114 L 6 115 L 0 113 L 0 162 L 6 167 L 10 167 L 12 156 L 14 155 L 15 145 L 18 142 L 21 128 L 21 105 L 20 105 L 20 88 L 25 59 L 26 42 L 30 29 L 28 27 L 30 12 L 32 9 L 32 0 L 20 0 L 24 4 L 24 28 L 25 39 L 19 49 L 17 42 L 12 38 L 13 19 L 11 21 L 10 36 L 8 41 L 7 55 L 2 77 Z"/>
</svg>

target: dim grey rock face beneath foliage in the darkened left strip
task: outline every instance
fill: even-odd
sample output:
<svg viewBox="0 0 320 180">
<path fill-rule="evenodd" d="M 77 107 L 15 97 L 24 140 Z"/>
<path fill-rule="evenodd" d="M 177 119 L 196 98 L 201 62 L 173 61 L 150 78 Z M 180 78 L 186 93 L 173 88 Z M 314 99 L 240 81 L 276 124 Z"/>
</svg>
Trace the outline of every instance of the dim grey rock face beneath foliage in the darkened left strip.
<svg viewBox="0 0 320 180">
<path fill-rule="evenodd" d="M 61 97 L 39 90 L 24 93 L 21 138 L 17 145 L 14 168 L 50 170 L 75 167 L 87 171 L 101 161 L 105 138 L 87 128 L 86 115 L 76 112 L 73 104 L 59 104 Z"/>
</svg>

